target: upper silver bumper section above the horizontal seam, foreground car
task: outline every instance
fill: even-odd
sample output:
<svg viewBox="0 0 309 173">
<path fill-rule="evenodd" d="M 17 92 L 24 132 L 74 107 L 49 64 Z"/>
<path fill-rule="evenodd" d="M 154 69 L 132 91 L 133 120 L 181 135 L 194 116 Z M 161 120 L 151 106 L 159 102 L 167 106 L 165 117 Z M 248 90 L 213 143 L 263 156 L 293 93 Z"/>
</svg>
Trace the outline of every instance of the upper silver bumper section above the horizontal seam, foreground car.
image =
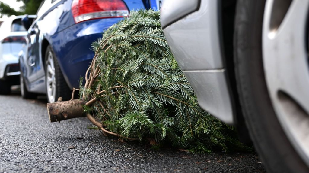
<svg viewBox="0 0 309 173">
<path fill-rule="evenodd" d="M 170 17 L 168 13 L 164 12 L 169 8 L 164 6 L 172 6 L 171 2 L 163 3 L 162 21 L 165 21 L 164 18 Z M 186 3 L 184 2 L 184 4 Z M 169 25 L 163 31 L 167 42 L 177 43 L 169 44 L 169 46 L 182 70 L 223 68 L 223 61 L 220 58 L 222 53 L 219 37 L 218 1 L 202 1 L 198 11 Z"/>
</svg>

